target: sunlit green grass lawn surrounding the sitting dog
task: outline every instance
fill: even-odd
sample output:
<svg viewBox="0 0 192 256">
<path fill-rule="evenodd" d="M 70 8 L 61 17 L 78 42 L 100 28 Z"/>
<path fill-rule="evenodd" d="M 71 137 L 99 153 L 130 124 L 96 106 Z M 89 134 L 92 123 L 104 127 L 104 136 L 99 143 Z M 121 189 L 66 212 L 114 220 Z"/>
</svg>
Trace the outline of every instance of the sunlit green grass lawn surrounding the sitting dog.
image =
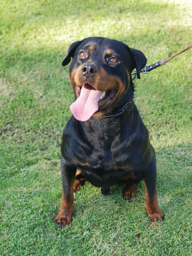
<svg viewBox="0 0 192 256">
<path fill-rule="evenodd" d="M 135 102 L 158 160 L 165 221 L 151 223 L 144 185 L 131 203 L 115 185 L 103 197 L 86 184 L 73 222 L 60 230 L 62 130 L 74 100 L 71 42 L 122 40 L 148 65 L 191 44 L 190 1 L 1 0 L 0 255 L 192 255 L 191 65 L 189 50 L 135 81 Z"/>
</svg>

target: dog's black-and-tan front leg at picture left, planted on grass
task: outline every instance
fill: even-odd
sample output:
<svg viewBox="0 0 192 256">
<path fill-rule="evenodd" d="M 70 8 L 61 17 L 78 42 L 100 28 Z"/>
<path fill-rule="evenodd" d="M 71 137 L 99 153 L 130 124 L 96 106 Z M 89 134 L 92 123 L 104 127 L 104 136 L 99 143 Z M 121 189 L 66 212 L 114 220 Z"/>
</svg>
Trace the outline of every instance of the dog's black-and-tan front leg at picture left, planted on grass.
<svg viewBox="0 0 192 256">
<path fill-rule="evenodd" d="M 71 224 L 73 214 L 73 182 L 75 179 L 76 168 L 66 165 L 61 157 L 61 176 L 62 176 L 62 202 L 60 210 L 55 218 L 55 222 L 60 228 Z"/>
</svg>

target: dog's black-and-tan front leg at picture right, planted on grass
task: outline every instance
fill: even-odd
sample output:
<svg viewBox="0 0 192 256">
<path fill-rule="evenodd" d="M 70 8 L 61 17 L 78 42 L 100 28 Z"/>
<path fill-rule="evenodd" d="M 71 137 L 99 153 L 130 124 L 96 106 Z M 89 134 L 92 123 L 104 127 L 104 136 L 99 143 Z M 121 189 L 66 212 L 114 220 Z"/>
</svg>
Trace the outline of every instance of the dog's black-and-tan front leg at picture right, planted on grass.
<svg viewBox="0 0 192 256">
<path fill-rule="evenodd" d="M 159 207 L 157 191 L 156 191 L 156 180 L 157 180 L 157 169 L 155 160 L 148 165 L 147 170 L 142 173 L 145 186 L 145 201 L 146 201 L 146 212 L 150 219 L 153 221 L 162 221 L 164 214 Z"/>
</svg>

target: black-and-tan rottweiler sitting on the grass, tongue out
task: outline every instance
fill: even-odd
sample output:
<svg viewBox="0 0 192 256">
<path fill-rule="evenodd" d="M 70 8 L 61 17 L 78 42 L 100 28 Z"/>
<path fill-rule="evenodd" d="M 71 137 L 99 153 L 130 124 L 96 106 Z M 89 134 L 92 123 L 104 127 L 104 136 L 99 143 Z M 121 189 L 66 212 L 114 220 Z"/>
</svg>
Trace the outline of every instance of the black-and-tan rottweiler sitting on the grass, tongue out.
<svg viewBox="0 0 192 256">
<path fill-rule="evenodd" d="M 90 37 L 73 42 L 62 65 L 71 58 L 76 100 L 62 137 L 63 192 L 56 223 L 60 228 L 71 224 L 73 191 L 86 181 L 101 187 L 103 195 L 113 184 L 124 182 L 124 198 L 131 201 L 136 184 L 144 180 L 147 215 L 161 221 L 155 151 L 134 103 L 131 78 L 134 69 L 140 78 L 144 54 L 117 40 Z"/>
</svg>

